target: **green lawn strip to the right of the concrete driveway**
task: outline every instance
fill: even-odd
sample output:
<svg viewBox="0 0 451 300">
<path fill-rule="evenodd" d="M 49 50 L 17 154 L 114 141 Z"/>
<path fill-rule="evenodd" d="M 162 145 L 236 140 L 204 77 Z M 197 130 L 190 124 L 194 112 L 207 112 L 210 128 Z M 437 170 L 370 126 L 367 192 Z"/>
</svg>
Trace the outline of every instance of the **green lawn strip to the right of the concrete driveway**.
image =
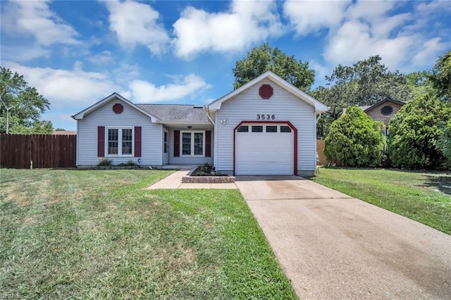
<svg viewBox="0 0 451 300">
<path fill-rule="evenodd" d="M 451 235 L 451 174 L 321 168 L 315 182 Z"/>
</svg>

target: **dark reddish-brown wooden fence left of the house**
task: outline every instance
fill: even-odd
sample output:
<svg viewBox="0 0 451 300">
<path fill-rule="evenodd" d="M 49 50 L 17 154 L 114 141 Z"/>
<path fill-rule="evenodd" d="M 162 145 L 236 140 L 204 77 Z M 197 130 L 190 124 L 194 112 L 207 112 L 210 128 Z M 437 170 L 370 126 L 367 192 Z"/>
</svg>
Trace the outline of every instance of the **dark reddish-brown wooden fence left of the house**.
<svg viewBox="0 0 451 300">
<path fill-rule="evenodd" d="M 74 168 L 76 135 L 0 134 L 1 168 Z"/>
</svg>

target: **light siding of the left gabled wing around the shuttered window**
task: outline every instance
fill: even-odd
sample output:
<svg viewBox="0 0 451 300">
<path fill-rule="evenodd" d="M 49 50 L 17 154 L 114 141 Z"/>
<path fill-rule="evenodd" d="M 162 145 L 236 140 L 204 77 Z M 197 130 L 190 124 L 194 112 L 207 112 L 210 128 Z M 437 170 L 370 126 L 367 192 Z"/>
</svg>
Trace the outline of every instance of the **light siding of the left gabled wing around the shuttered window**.
<svg viewBox="0 0 451 300">
<path fill-rule="evenodd" d="M 123 113 L 113 112 L 113 105 L 123 105 Z M 118 99 L 113 99 L 97 108 L 92 113 L 78 120 L 77 125 L 77 165 L 97 165 L 100 158 L 97 157 L 97 127 L 107 128 L 134 128 L 141 127 L 141 161 L 140 165 L 162 165 L 163 164 L 163 127 L 161 124 L 152 123 L 151 119 Z M 108 146 L 108 132 L 105 133 L 105 144 Z M 132 141 L 134 146 L 135 140 Z M 105 156 L 109 157 L 108 149 Z M 134 153 L 134 151 L 133 151 Z M 127 163 L 130 159 L 137 163 L 139 157 L 116 156 L 109 157 L 113 164 Z"/>
</svg>

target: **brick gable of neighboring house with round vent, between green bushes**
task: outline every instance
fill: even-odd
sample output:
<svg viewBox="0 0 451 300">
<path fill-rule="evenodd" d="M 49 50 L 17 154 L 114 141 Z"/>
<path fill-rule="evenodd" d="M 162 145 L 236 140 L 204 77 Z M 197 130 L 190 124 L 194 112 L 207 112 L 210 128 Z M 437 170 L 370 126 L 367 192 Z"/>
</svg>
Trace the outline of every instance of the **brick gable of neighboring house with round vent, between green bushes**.
<svg viewBox="0 0 451 300">
<path fill-rule="evenodd" d="M 393 100 L 387 97 L 372 106 L 360 106 L 360 108 L 362 108 L 362 110 L 373 120 L 383 122 L 385 124 L 383 134 L 388 135 L 388 123 L 390 123 L 390 119 L 393 118 L 393 115 L 400 111 L 404 104 L 405 102 Z"/>
</svg>

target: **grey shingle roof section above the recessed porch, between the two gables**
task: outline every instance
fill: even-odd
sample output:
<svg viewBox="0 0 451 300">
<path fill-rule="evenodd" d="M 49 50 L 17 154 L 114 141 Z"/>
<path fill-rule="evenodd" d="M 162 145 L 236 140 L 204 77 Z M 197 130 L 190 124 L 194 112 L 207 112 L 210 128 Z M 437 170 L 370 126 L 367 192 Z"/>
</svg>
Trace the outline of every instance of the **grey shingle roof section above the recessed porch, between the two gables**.
<svg viewBox="0 0 451 300">
<path fill-rule="evenodd" d="M 163 122 L 210 123 L 202 106 L 180 104 L 136 104 L 136 106 Z"/>
</svg>

